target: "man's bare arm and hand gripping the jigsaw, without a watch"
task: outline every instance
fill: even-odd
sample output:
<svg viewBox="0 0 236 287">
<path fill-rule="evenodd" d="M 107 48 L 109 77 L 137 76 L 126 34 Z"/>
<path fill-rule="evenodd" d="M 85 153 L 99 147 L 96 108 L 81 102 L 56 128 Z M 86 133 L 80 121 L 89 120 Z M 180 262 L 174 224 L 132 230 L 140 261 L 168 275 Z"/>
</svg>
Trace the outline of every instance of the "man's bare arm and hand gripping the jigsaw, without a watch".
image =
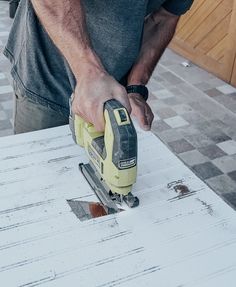
<svg viewBox="0 0 236 287">
<path fill-rule="evenodd" d="M 90 45 L 81 0 L 31 0 L 48 35 L 76 78 L 72 109 L 97 130 L 104 129 L 103 105 L 116 98 L 128 111 L 125 89 L 105 71 Z"/>
</svg>

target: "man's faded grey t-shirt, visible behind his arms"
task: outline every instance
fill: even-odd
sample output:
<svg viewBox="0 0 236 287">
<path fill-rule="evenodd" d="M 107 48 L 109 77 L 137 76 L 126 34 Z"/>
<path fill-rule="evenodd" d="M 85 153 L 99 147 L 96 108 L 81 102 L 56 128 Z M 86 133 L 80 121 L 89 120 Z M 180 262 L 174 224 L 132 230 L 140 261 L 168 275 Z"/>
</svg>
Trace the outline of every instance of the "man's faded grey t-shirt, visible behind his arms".
<svg viewBox="0 0 236 287">
<path fill-rule="evenodd" d="M 192 2 L 84 0 L 92 47 L 106 70 L 120 81 L 138 56 L 145 16 L 161 6 L 180 15 Z M 22 94 L 68 115 L 68 98 L 75 79 L 40 24 L 30 0 L 20 2 L 4 54 L 12 63 L 12 76 Z"/>
</svg>

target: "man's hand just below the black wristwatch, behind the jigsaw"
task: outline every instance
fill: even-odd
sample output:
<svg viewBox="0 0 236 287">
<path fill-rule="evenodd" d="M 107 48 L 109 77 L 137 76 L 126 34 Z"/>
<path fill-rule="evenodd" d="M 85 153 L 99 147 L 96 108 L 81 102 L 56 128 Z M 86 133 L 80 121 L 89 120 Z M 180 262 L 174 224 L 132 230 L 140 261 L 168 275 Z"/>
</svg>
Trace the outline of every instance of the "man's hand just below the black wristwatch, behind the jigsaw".
<svg viewBox="0 0 236 287">
<path fill-rule="evenodd" d="M 132 114 L 139 122 L 140 127 L 149 131 L 151 129 L 154 115 L 150 106 L 145 102 L 139 94 L 129 94 L 129 101 L 132 108 Z"/>
</svg>

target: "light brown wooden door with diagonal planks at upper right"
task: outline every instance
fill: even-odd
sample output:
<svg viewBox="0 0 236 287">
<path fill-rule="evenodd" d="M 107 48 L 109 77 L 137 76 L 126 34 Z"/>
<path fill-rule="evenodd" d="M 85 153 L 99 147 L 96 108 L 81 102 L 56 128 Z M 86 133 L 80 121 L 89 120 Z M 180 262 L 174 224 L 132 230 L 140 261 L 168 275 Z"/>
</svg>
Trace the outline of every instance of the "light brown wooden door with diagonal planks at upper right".
<svg viewBox="0 0 236 287">
<path fill-rule="evenodd" d="M 170 47 L 230 82 L 236 54 L 236 0 L 195 0 L 180 19 Z"/>
</svg>

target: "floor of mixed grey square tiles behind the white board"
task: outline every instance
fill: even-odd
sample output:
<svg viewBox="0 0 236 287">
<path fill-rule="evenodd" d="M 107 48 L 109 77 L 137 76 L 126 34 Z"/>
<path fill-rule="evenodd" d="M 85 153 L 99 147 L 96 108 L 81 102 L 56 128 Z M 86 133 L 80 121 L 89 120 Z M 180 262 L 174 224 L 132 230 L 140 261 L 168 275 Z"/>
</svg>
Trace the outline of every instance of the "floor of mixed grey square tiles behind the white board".
<svg viewBox="0 0 236 287">
<path fill-rule="evenodd" d="M 9 62 L 2 55 L 12 21 L 0 1 L 0 136 L 12 134 Z M 149 83 L 152 131 L 236 208 L 236 89 L 166 50 Z M 158 163 L 157 163 L 158 164 Z"/>
</svg>

